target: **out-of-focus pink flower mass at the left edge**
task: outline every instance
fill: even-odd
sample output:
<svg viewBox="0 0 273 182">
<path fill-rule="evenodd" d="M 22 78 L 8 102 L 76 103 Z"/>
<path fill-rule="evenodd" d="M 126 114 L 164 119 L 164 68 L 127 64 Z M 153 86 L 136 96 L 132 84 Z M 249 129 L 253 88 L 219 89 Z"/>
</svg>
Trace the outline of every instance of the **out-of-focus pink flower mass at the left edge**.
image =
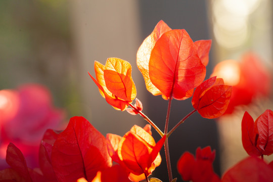
<svg viewBox="0 0 273 182">
<path fill-rule="evenodd" d="M 0 90 L 0 116 L 0 169 L 5 167 L 10 142 L 22 151 L 30 167 L 36 167 L 43 133 L 48 128 L 63 129 L 65 112 L 53 106 L 48 88 L 24 84 L 17 90 Z"/>
</svg>

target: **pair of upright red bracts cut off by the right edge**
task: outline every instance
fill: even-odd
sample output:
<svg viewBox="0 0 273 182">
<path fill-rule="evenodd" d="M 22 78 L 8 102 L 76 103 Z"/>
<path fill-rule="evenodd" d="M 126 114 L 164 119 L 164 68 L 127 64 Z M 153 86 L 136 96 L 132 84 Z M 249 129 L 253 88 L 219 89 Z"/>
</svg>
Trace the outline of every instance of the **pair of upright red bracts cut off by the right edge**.
<svg viewBox="0 0 273 182">
<path fill-rule="evenodd" d="M 251 156 L 270 155 L 273 153 L 273 112 L 266 110 L 254 122 L 245 112 L 242 119 L 242 142 L 244 149 Z"/>
</svg>

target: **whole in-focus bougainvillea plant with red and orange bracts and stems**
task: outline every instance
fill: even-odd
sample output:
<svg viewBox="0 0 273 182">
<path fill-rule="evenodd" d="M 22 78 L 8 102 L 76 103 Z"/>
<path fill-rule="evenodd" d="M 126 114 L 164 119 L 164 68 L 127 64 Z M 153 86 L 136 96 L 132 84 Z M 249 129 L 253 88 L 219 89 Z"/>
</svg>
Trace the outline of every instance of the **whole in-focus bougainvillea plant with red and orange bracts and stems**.
<svg viewBox="0 0 273 182">
<path fill-rule="evenodd" d="M 149 124 L 144 128 L 134 125 L 123 136 L 108 133 L 105 137 L 84 117 L 72 117 L 63 131 L 45 131 L 38 154 L 39 168 L 28 168 L 20 149 L 10 143 L 6 155 L 10 168 L 0 171 L 0 181 L 160 182 L 150 175 L 161 163 L 159 151 L 164 145 L 166 175 L 169 182 L 175 182 L 178 179 L 172 176 L 169 136 L 195 112 L 205 118 L 221 116 L 232 95 L 232 86 L 224 84 L 223 79 L 214 76 L 204 81 L 210 46 L 210 40 L 194 42 L 186 30 L 172 30 L 160 21 L 139 48 L 136 64 L 143 74 L 147 90 L 168 100 L 163 131 L 142 112 L 143 105 L 136 99 L 131 65 L 119 58 L 108 58 L 105 65 L 96 61 L 96 76 L 89 75 L 106 102 L 117 110 L 141 115 Z M 193 111 L 169 129 L 172 99 L 190 97 Z M 267 164 L 262 158 L 273 153 L 272 122 L 270 110 L 255 122 L 246 112 L 242 121 L 242 141 L 251 156 L 220 177 L 213 170 L 215 151 L 211 151 L 209 146 L 198 148 L 196 156 L 185 152 L 177 162 L 181 178 L 194 182 L 273 181 L 273 162 Z M 157 142 L 152 136 L 151 126 L 161 136 Z"/>
</svg>

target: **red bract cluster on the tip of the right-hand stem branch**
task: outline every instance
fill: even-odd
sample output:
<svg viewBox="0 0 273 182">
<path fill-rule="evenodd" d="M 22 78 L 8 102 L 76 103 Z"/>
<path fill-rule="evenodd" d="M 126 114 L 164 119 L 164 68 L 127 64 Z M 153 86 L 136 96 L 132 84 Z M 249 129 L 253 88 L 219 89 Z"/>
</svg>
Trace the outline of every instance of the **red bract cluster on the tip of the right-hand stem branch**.
<svg viewBox="0 0 273 182">
<path fill-rule="evenodd" d="M 194 92 L 193 107 L 204 118 L 221 116 L 228 108 L 232 86 L 225 85 L 221 78 L 212 77 L 199 85 Z"/>
</svg>

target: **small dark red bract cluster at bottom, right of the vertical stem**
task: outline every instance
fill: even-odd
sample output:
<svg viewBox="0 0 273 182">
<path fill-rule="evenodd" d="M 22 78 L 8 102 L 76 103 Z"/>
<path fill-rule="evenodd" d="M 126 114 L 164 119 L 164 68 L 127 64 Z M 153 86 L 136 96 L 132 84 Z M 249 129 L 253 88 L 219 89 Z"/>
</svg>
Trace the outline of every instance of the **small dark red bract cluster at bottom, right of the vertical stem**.
<svg viewBox="0 0 273 182">
<path fill-rule="evenodd" d="M 177 162 L 177 170 L 183 180 L 192 180 L 193 182 L 220 182 L 220 178 L 214 173 L 212 162 L 215 158 L 215 151 L 210 147 L 196 150 L 196 159 L 194 155 L 185 152 Z"/>
</svg>

